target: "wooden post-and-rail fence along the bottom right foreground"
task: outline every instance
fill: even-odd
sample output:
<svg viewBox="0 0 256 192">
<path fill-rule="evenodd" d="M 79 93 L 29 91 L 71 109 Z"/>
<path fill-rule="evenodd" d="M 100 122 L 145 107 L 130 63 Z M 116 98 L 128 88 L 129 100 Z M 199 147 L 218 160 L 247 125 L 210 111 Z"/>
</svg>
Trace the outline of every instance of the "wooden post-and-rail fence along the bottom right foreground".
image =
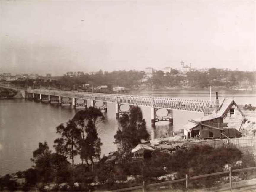
<svg viewBox="0 0 256 192">
<path fill-rule="evenodd" d="M 200 179 L 200 178 L 204 178 L 204 177 L 211 177 L 211 176 L 215 176 L 215 175 L 223 175 L 223 174 L 228 174 L 228 173 L 229 173 L 229 189 L 232 191 L 232 172 L 243 172 L 243 171 L 252 171 L 252 170 L 256 170 L 256 167 L 248 167 L 248 168 L 234 169 L 234 170 L 232 170 L 232 168 L 229 167 L 228 171 L 210 173 L 210 174 L 206 174 L 206 175 L 198 175 L 198 176 L 193 176 L 193 177 L 189 177 L 186 174 L 186 177 L 182 178 L 182 179 L 165 181 L 165 182 L 161 182 L 161 183 L 153 183 L 153 184 L 149 184 L 149 185 L 145 185 L 145 182 L 143 181 L 143 184 L 140 186 L 117 189 L 117 190 L 106 191 L 106 192 L 123 192 L 123 191 L 137 190 L 137 189 L 141 189 L 142 192 L 145 192 L 146 188 L 149 188 L 149 187 L 163 186 L 163 185 L 168 185 L 171 183 L 179 183 L 179 182 L 184 182 L 184 181 L 186 183 L 186 189 L 188 189 L 189 181 L 191 181 L 191 180 L 196 180 L 196 179 Z M 246 186 L 244 186 L 244 187 L 246 187 Z"/>
</svg>

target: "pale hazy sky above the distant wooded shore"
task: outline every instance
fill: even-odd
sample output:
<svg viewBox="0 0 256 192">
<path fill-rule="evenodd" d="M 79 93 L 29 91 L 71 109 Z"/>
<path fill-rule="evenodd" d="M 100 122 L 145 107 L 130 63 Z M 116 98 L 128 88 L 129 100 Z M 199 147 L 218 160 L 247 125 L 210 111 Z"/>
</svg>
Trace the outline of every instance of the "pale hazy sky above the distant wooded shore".
<svg viewBox="0 0 256 192">
<path fill-rule="evenodd" d="M 0 73 L 254 71 L 255 2 L 0 0 Z"/>
</svg>

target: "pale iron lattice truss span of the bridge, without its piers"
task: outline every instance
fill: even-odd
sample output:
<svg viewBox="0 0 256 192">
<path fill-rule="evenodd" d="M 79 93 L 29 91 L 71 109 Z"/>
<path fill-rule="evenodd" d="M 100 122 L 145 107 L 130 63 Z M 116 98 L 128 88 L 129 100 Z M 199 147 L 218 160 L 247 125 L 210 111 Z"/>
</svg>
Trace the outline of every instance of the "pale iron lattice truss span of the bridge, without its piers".
<svg viewBox="0 0 256 192">
<path fill-rule="evenodd" d="M 144 95 L 117 95 L 89 92 L 72 92 L 44 89 L 28 89 L 28 93 L 89 99 L 95 101 L 140 105 L 153 108 L 176 109 L 183 111 L 204 112 L 208 107 L 214 107 L 214 102 L 208 100 L 178 99 L 168 97 L 152 97 Z"/>
</svg>

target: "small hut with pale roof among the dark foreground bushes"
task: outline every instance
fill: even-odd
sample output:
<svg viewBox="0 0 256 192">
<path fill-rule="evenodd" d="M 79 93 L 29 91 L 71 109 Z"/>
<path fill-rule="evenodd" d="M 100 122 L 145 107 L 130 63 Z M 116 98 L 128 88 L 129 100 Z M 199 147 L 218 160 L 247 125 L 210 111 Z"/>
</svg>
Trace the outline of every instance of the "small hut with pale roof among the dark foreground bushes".
<svg viewBox="0 0 256 192">
<path fill-rule="evenodd" d="M 132 159 L 144 159 L 151 156 L 151 152 L 155 149 L 146 144 L 138 144 L 135 148 L 132 149 Z"/>
</svg>

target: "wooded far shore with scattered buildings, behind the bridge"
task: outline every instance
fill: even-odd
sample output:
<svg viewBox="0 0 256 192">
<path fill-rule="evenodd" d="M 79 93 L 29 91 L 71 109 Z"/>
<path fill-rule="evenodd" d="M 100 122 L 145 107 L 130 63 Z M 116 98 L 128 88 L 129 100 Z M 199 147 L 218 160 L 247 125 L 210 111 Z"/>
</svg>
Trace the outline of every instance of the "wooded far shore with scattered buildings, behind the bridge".
<svg viewBox="0 0 256 192">
<path fill-rule="evenodd" d="M 104 88 L 109 92 L 116 86 L 127 89 L 146 89 L 152 87 L 207 88 L 209 86 L 216 86 L 226 89 L 253 90 L 255 82 L 255 71 L 228 71 L 216 68 L 210 68 L 204 72 L 189 71 L 186 73 L 181 73 L 175 69 L 172 69 L 169 73 L 159 70 L 151 74 L 135 70 L 112 72 L 100 70 L 93 74 L 68 72 L 59 78 L 19 78 L 10 81 L 10 83 L 20 87 L 62 88 L 64 90 L 82 91 L 97 90 L 97 87 L 105 85 Z"/>
</svg>

